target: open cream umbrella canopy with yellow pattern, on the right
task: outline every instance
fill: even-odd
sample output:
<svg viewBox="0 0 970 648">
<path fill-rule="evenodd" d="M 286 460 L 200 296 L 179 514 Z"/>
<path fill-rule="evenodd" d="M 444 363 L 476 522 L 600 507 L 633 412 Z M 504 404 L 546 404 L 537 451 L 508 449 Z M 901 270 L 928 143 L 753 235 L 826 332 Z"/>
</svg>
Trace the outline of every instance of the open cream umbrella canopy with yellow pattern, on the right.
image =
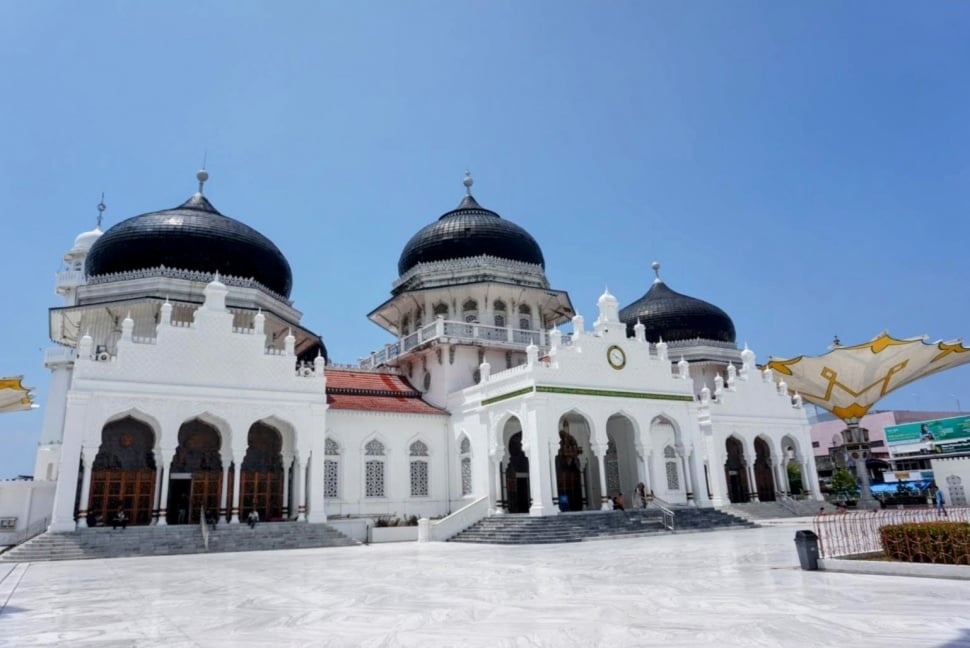
<svg viewBox="0 0 970 648">
<path fill-rule="evenodd" d="M 772 358 L 767 366 L 804 400 L 850 422 L 865 416 L 889 392 L 967 362 L 970 348 L 959 340 L 900 340 L 883 332 L 864 344 L 836 345 L 820 356 Z"/>
</svg>

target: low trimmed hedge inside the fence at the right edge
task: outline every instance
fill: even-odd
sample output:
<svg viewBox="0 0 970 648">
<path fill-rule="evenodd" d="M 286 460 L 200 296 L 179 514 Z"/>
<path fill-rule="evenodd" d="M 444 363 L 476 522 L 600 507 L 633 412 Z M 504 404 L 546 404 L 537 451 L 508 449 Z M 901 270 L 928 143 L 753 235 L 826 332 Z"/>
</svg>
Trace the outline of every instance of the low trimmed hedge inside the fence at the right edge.
<svg viewBox="0 0 970 648">
<path fill-rule="evenodd" d="M 908 522 L 880 527 L 891 560 L 970 565 L 970 523 Z"/>
</svg>

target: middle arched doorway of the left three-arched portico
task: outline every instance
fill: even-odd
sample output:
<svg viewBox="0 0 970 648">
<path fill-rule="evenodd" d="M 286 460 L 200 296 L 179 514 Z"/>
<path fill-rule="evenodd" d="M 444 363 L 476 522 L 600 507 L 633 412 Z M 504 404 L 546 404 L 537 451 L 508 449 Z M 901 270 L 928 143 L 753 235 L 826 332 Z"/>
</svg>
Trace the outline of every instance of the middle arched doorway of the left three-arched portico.
<svg viewBox="0 0 970 648">
<path fill-rule="evenodd" d="M 213 515 L 222 495 L 221 439 L 216 428 L 193 419 L 179 428 L 168 485 L 169 524 L 197 523 L 202 510 Z M 230 477 L 231 481 L 231 477 Z M 232 483 L 228 488 L 231 492 Z"/>
</svg>

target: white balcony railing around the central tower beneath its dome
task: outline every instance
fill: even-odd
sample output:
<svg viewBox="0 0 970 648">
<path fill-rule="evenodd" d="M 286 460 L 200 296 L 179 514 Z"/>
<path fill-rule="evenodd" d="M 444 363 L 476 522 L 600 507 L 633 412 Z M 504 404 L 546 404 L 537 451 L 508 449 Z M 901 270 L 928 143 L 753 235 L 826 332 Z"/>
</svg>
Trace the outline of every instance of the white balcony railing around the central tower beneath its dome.
<svg viewBox="0 0 970 648">
<path fill-rule="evenodd" d="M 540 354 L 549 348 L 549 335 L 545 331 L 529 331 L 505 326 L 489 326 L 472 322 L 455 322 L 437 319 L 418 330 L 405 335 L 397 342 L 374 351 L 366 358 L 360 359 L 362 369 L 374 369 L 386 365 L 395 358 L 402 356 L 412 349 L 433 340 L 451 342 L 454 344 L 480 344 L 495 346 L 503 349 L 519 349 L 524 351 L 530 344 L 540 349 Z M 568 344 L 568 337 L 563 336 L 563 345 Z"/>
</svg>

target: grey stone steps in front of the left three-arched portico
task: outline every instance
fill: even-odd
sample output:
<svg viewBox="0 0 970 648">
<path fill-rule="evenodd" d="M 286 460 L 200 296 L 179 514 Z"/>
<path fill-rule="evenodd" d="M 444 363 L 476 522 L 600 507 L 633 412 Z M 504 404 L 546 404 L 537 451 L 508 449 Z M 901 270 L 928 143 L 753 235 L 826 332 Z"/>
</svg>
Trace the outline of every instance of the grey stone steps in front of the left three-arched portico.
<svg viewBox="0 0 970 648">
<path fill-rule="evenodd" d="M 333 527 L 306 522 L 223 524 L 209 531 L 209 553 L 270 551 L 356 545 Z M 168 556 L 206 553 L 197 524 L 137 526 L 127 529 L 97 527 L 73 533 L 44 533 L 0 555 L 3 562 L 82 560 L 129 556 Z"/>
</svg>

